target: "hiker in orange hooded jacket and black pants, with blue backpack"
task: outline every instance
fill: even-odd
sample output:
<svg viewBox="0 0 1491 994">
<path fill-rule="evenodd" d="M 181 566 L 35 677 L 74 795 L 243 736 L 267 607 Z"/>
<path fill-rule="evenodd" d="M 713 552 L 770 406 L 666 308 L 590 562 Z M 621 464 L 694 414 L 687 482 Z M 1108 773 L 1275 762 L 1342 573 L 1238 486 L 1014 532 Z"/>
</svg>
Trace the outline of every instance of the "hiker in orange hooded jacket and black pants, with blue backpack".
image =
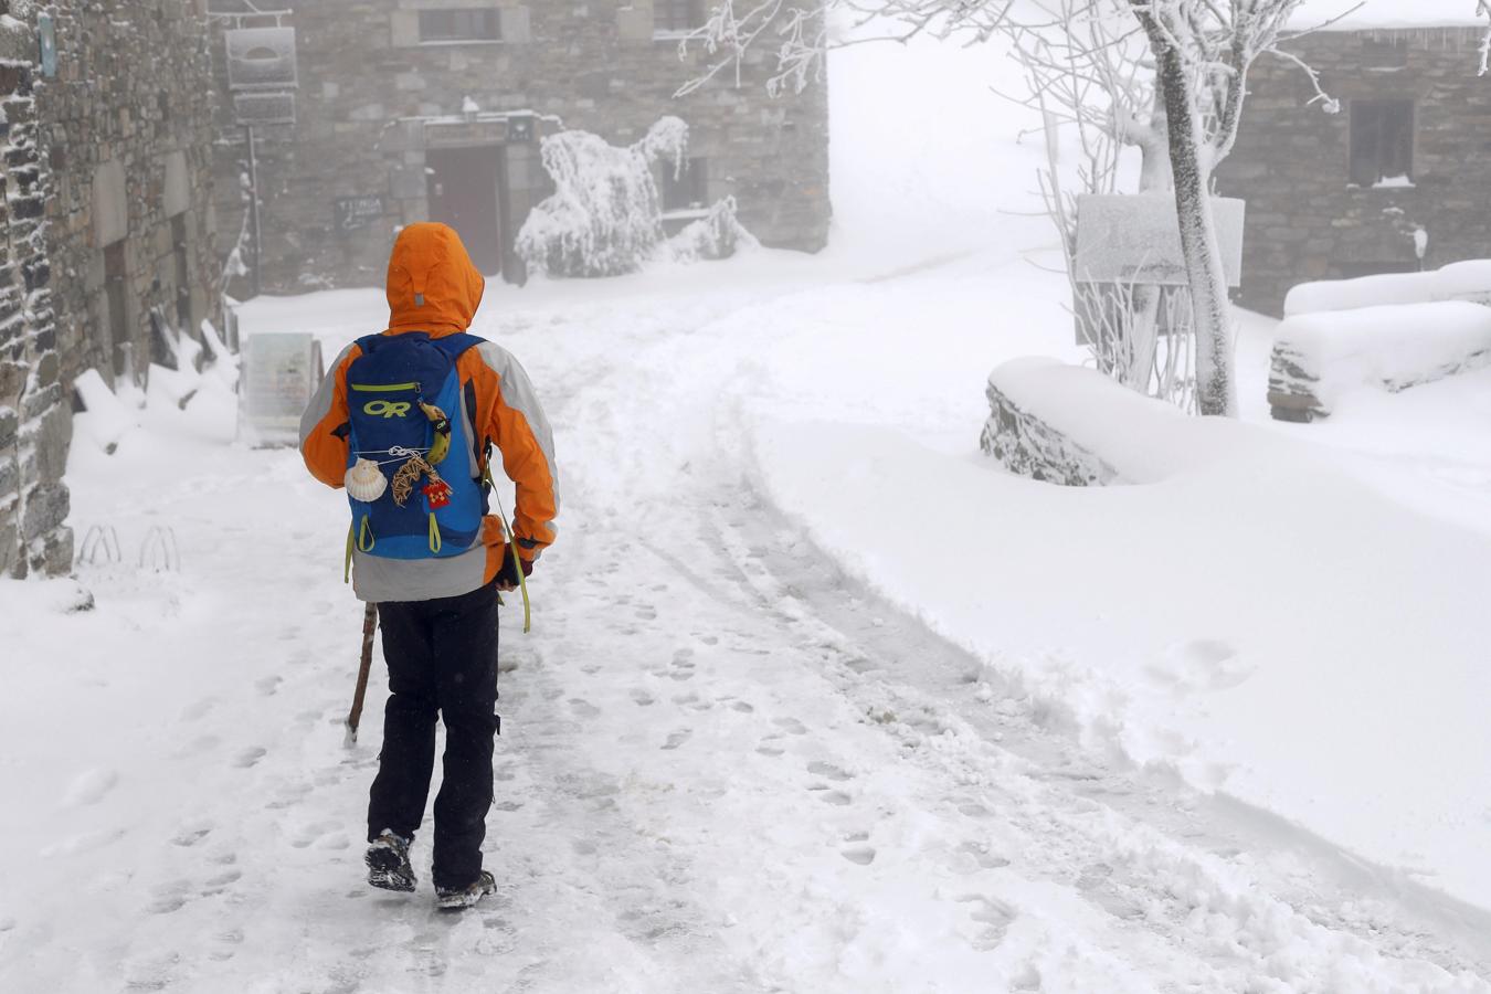
<svg viewBox="0 0 1491 994">
<path fill-rule="evenodd" d="M 553 541 L 553 438 L 528 374 L 465 334 L 485 280 L 456 232 L 414 224 L 388 264 L 388 331 L 337 358 L 300 422 L 312 475 L 346 486 L 353 590 L 376 604 L 389 697 L 368 800 L 368 882 L 413 891 L 409 848 L 425 817 L 435 714 L 446 724 L 435 797 L 437 905 L 494 890 L 482 869 L 492 806 L 498 592 L 525 586 Z M 492 446 L 517 484 L 513 542 L 488 514 Z"/>
</svg>

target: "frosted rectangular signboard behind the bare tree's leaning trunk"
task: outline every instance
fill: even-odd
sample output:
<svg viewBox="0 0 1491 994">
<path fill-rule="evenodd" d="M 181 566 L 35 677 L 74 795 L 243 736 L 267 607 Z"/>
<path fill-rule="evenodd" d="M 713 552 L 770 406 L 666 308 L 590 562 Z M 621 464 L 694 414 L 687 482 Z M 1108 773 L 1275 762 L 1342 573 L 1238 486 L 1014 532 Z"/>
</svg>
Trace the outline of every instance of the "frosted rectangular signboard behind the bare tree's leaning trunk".
<svg viewBox="0 0 1491 994">
<path fill-rule="evenodd" d="M 1227 285 L 1242 282 L 1243 201 L 1212 198 Z M 1184 286 L 1175 194 L 1085 194 L 1077 198 L 1077 279 L 1082 283 Z"/>
</svg>

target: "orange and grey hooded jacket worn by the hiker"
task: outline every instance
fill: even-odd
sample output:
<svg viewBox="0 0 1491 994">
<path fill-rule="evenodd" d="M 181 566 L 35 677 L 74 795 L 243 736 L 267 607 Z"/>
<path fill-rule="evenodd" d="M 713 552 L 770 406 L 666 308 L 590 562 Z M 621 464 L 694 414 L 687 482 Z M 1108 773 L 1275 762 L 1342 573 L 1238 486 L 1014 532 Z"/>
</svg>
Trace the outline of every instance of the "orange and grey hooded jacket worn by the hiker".
<svg viewBox="0 0 1491 994">
<path fill-rule="evenodd" d="M 425 331 L 432 338 L 470 328 L 486 280 L 452 228 L 414 224 L 394 241 L 388 262 L 389 326 L 385 335 Z M 355 343 L 337 358 L 301 417 L 301 458 L 312 475 L 341 487 L 347 471 L 347 367 L 362 355 Z M 473 383 L 477 438 L 497 446 L 502 468 L 517 487 L 513 534 L 517 554 L 532 562 L 555 539 L 559 513 L 553 435 L 528 374 L 505 349 L 483 343 L 456 362 L 462 383 Z M 426 601 L 458 596 L 491 583 L 505 542 L 497 516 L 488 516 L 482 548 L 447 559 L 388 560 L 355 553 L 356 593 L 364 601 Z"/>
</svg>

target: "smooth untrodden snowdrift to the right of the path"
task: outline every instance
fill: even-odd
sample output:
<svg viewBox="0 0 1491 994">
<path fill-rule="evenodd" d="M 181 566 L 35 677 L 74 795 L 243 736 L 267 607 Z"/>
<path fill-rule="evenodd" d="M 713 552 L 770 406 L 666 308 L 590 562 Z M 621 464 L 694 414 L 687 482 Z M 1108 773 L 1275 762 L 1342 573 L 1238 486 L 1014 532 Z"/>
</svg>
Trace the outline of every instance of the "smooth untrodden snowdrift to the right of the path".
<svg viewBox="0 0 1491 994">
<path fill-rule="evenodd" d="M 759 478 L 847 572 L 1090 747 L 1491 906 L 1491 536 L 1397 502 L 1349 453 L 1088 370 L 1020 359 L 992 382 L 1129 486 L 765 411 Z M 926 526 L 886 528 L 908 510 Z"/>
</svg>

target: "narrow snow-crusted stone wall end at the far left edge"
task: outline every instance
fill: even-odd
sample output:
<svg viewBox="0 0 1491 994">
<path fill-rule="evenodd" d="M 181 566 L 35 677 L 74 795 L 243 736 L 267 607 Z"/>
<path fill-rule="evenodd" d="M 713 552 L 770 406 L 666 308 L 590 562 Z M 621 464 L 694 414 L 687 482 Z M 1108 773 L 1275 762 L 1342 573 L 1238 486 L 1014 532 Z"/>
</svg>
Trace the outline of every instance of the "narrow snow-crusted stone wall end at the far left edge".
<svg viewBox="0 0 1491 994">
<path fill-rule="evenodd" d="M 4 13 L 9 13 L 4 10 Z M 43 216 L 51 180 L 36 121 L 33 25 L 0 24 L 0 575 L 61 574 L 72 411 L 63 392 Z"/>
</svg>

